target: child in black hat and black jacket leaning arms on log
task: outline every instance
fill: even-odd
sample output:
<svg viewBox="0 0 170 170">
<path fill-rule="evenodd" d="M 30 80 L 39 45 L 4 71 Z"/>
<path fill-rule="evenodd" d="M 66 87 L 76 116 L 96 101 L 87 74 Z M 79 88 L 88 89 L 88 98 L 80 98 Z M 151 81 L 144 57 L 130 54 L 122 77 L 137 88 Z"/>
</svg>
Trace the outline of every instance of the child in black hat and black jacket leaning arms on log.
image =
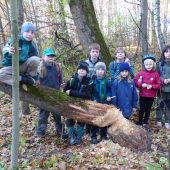
<svg viewBox="0 0 170 170">
<path fill-rule="evenodd" d="M 71 80 L 69 80 L 64 88 L 64 92 L 69 96 L 80 97 L 84 99 L 90 99 L 91 91 L 93 88 L 93 81 L 88 77 L 88 63 L 81 61 L 77 66 L 77 74 L 73 75 Z M 68 128 L 68 136 L 70 139 L 70 144 L 81 143 L 81 136 L 83 134 L 84 123 L 77 122 L 76 136 L 74 134 L 75 121 L 73 119 L 67 118 L 66 125 Z"/>
</svg>

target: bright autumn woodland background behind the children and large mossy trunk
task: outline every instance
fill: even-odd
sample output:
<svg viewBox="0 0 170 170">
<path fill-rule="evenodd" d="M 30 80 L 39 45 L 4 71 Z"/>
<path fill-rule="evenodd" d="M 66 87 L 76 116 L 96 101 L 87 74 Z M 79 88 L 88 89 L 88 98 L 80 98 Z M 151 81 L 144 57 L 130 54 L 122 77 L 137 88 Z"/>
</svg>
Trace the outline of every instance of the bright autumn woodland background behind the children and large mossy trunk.
<svg viewBox="0 0 170 170">
<path fill-rule="evenodd" d="M 82 50 L 69 3 L 67 0 L 18 0 L 19 30 L 25 21 L 35 24 L 37 31 L 34 43 L 39 55 L 42 56 L 45 48 L 54 49 L 66 79 L 75 73 L 77 63 L 88 57 L 88 51 Z M 157 0 L 157 3 L 158 5 L 160 3 L 160 28 L 163 41 L 167 45 L 170 43 L 169 0 Z M 92 4 L 100 31 L 113 59 L 116 48 L 125 47 L 135 73 L 141 69 L 141 58 L 144 54 L 151 53 L 157 60 L 159 59 L 160 48 L 154 24 L 154 0 L 93 0 Z M 9 0 L 2 0 L 0 7 L 2 60 L 3 47 L 11 37 Z"/>
</svg>

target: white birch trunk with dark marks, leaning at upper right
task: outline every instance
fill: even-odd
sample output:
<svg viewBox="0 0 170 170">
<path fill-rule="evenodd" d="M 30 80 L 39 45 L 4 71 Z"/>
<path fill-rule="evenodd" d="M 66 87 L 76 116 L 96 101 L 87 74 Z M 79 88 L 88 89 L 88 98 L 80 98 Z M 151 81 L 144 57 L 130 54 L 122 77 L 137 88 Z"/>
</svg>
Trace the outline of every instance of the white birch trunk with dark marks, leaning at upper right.
<svg viewBox="0 0 170 170">
<path fill-rule="evenodd" d="M 153 2 L 153 13 L 154 13 L 154 25 L 155 25 L 155 32 L 157 41 L 159 44 L 160 51 L 165 46 L 162 30 L 161 30 L 161 22 L 160 22 L 160 0 L 154 0 Z"/>
</svg>

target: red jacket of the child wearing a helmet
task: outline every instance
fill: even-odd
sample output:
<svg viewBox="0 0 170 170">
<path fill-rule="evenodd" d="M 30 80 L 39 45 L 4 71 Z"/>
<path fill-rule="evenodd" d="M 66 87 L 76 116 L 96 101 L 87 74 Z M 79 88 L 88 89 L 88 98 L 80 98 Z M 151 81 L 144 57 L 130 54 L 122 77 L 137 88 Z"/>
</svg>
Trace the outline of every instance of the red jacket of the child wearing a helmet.
<svg viewBox="0 0 170 170">
<path fill-rule="evenodd" d="M 138 82 L 140 76 L 142 76 L 141 83 Z M 151 71 L 142 70 L 136 75 L 136 77 L 134 78 L 134 82 L 136 87 L 140 88 L 139 96 L 142 97 L 154 98 L 156 95 L 156 91 L 162 87 L 160 76 L 155 70 Z M 150 90 L 148 90 L 146 87 L 143 88 L 142 87 L 143 83 L 146 83 L 147 85 L 152 85 L 152 88 Z"/>
</svg>

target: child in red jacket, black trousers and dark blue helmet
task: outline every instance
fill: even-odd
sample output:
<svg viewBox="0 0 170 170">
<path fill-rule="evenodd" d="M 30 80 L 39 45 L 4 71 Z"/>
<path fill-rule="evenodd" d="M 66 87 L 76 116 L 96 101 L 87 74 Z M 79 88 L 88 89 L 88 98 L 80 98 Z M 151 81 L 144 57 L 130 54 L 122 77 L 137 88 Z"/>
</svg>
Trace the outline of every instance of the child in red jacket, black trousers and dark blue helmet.
<svg viewBox="0 0 170 170">
<path fill-rule="evenodd" d="M 155 66 L 155 57 L 148 54 L 142 58 L 142 63 L 145 70 L 139 72 L 134 78 L 136 87 L 139 87 L 140 96 L 140 111 L 139 111 L 139 125 L 142 125 L 147 131 L 150 129 L 147 126 L 150 110 L 153 104 L 156 91 L 161 88 L 161 80 L 159 74 L 153 69 Z M 145 112 L 145 117 L 144 117 Z M 144 123 L 143 123 L 144 117 Z"/>
</svg>

